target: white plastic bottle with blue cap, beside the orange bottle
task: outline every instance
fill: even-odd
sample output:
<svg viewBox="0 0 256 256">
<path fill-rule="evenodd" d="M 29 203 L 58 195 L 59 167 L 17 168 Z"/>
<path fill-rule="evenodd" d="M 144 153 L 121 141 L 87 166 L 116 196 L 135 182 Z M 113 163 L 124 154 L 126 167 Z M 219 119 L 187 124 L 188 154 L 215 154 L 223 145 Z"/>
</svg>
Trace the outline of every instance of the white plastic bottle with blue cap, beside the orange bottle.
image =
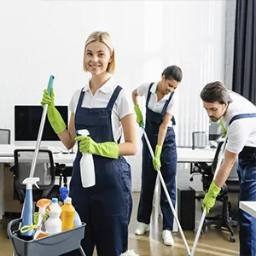
<svg viewBox="0 0 256 256">
<path fill-rule="evenodd" d="M 54 235 L 60 233 L 62 230 L 61 222 L 61 207 L 57 198 L 52 198 L 51 204 L 49 205 L 49 218 L 45 222 L 45 230 L 48 235 Z"/>
</svg>

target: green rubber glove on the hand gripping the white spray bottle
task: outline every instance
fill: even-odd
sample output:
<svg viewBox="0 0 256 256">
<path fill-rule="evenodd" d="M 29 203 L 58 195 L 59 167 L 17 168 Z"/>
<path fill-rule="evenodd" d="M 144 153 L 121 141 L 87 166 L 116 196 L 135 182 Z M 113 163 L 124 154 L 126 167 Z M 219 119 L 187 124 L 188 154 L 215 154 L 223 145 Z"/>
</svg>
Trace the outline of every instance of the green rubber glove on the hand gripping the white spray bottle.
<svg viewBox="0 0 256 256">
<path fill-rule="evenodd" d="M 119 158 L 119 145 L 117 143 L 96 143 L 91 137 L 78 136 L 75 140 L 79 143 L 81 153 L 98 154 L 104 157 Z"/>
</svg>

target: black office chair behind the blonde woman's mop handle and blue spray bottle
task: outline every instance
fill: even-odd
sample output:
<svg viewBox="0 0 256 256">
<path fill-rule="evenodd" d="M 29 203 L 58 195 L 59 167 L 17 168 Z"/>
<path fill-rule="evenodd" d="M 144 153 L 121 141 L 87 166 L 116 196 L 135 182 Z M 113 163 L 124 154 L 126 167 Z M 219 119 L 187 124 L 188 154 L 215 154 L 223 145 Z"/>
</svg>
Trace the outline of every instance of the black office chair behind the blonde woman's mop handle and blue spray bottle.
<svg viewBox="0 0 256 256">
<path fill-rule="evenodd" d="M 25 200 L 26 185 L 22 184 L 26 177 L 29 177 L 34 149 L 15 149 L 14 172 L 14 199 L 22 204 Z M 55 185 L 55 166 L 52 152 L 47 149 L 40 149 L 38 160 L 33 177 L 39 177 L 38 186 L 32 187 L 33 201 L 41 198 L 53 198 L 59 196 L 59 186 Z"/>
</svg>

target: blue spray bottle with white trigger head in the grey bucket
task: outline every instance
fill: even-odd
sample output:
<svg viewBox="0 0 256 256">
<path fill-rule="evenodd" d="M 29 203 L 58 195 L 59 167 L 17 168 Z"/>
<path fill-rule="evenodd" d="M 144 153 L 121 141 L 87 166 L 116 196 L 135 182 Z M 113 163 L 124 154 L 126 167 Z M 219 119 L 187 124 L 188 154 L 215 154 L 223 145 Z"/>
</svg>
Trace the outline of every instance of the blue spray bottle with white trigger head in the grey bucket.
<svg viewBox="0 0 256 256">
<path fill-rule="evenodd" d="M 23 213 L 22 213 L 22 221 L 21 228 L 24 226 L 32 226 L 33 225 L 33 196 L 32 196 L 32 185 L 38 187 L 37 182 L 39 181 L 39 177 L 27 177 L 22 183 L 26 184 L 26 195 L 25 201 L 23 205 Z M 38 187 L 39 189 L 39 187 Z M 20 236 L 25 240 L 32 240 L 34 236 L 35 230 L 27 230 L 26 232 L 20 233 Z"/>
</svg>

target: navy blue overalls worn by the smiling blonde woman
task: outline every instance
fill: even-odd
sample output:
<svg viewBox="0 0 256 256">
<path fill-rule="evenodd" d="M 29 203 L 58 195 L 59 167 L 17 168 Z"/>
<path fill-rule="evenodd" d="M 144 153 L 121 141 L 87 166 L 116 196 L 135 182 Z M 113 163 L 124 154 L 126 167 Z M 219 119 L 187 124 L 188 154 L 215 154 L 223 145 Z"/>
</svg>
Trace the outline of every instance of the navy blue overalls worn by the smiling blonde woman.
<svg viewBox="0 0 256 256">
<path fill-rule="evenodd" d="M 87 129 L 96 143 L 114 142 L 111 114 L 120 90 L 122 88 L 117 86 L 113 91 L 107 108 L 82 108 L 84 91 L 81 91 L 75 114 L 76 130 Z M 80 177 L 81 156 L 78 151 L 73 162 L 70 196 L 86 224 L 82 241 L 84 253 L 92 256 L 96 246 L 98 256 L 119 256 L 128 247 L 132 208 L 131 166 L 122 156 L 112 159 L 93 154 L 96 185 L 84 189 Z"/>
</svg>

